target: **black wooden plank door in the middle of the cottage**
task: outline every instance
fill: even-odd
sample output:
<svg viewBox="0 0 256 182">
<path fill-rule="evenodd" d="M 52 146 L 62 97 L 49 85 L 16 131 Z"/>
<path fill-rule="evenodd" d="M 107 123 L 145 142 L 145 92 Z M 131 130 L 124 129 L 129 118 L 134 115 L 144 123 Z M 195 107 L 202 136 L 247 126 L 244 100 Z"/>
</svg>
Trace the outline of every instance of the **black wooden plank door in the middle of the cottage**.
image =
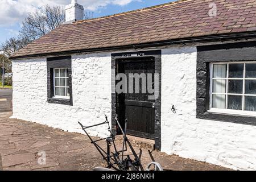
<svg viewBox="0 0 256 182">
<path fill-rule="evenodd" d="M 120 61 L 118 64 L 119 73 L 125 73 L 129 78 L 129 73 L 148 73 L 152 74 L 154 78 L 155 62 L 154 59 L 144 60 L 125 60 Z M 134 93 L 120 94 L 118 96 L 119 102 L 119 119 L 124 123 L 128 119 L 127 134 L 137 137 L 154 139 L 155 134 L 155 108 L 154 100 L 148 100 L 148 96 L 152 94 L 142 93 L 142 79 L 139 80 L 139 93 L 135 93 L 135 80 L 134 80 Z M 129 81 L 127 80 L 127 84 Z M 152 85 L 154 88 L 154 79 Z M 129 88 L 129 85 L 127 85 Z M 128 89 L 129 90 L 129 89 Z M 123 126 L 123 125 L 122 125 Z"/>
</svg>

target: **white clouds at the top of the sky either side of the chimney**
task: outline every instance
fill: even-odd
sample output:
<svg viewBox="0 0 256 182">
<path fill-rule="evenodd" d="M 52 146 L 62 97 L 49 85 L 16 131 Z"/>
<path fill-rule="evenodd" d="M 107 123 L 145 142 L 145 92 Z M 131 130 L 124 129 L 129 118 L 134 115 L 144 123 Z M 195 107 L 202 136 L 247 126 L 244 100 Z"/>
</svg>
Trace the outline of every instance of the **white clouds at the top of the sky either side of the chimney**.
<svg viewBox="0 0 256 182">
<path fill-rule="evenodd" d="M 79 0 L 85 9 L 96 11 L 110 4 L 124 6 L 140 0 Z M 71 0 L 0 0 L 0 26 L 10 26 L 21 22 L 29 12 L 44 5 L 68 5 Z"/>
</svg>

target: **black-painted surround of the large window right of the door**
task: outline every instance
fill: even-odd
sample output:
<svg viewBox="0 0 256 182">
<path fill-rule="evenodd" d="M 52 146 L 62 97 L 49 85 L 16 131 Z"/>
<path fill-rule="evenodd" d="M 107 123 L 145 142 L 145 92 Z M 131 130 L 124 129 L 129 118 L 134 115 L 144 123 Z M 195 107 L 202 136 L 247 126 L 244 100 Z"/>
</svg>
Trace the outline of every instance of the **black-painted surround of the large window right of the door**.
<svg viewBox="0 0 256 182">
<path fill-rule="evenodd" d="M 248 65 L 238 64 L 241 62 L 246 63 L 247 61 L 249 61 Z M 229 65 L 229 75 L 227 75 L 228 68 L 226 68 L 224 65 L 217 68 L 217 63 L 227 63 L 227 65 L 228 63 L 237 64 Z M 255 85 L 253 81 L 250 81 L 250 83 L 246 83 L 239 80 L 242 77 L 251 77 L 251 74 L 254 74 L 253 67 L 255 67 L 255 64 L 249 65 L 249 63 L 256 63 L 256 42 L 230 43 L 197 47 L 197 118 L 256 126 L 256 117 L 254 115 L 242 115 L 236 112 L 218 113 L 209 111 L 211 107 L 210 104 L 213 104 L 215 107 L 223 107 L 223 109 L 225 109 L 224 107 L 229 107 L 235 110 L 242 110 L 242 102 L 249 103 L 247 104 L 247 106 L 245 105 L 243 107 L 244 110 L 253 110 L 251 104 L 255 101 L 254 99 L 252 100 L 251 97 L 244 97 L 242 99 L 241 96 L 236 96 L 236 94 L 241 94 L 241 92 L 245 92 L 245 94 L 250 94 L 251 92 L 253 92 L 251 91 L 252 86 L 250 86 Z M 212 64 L 217 64 L 216 69 L 219 69 L 220 71 L 212 73 L 212 75 L 210 75 L 210 69 L 212 68 Z M 244 68 L 244 65 L 249 68 Z M 243 70 L 246 70 L 247 72 L 244 73 Z M 228 82 L 229 87 L 227 88 L 225 82 L 217 80 L 218 83 L 216 83 L 216 85 L 218 84 L 218 86 L 215 86 L 214 88 L 213 82 L 212 85 L 210 85 L 211 76 L 230 77 L 230 80 Z M 245 90 L 243 90 L 243 86 L 239 86 L 243 84 L 245 84 Z M 246 88 L 246 85 L 249 85 L 248 88 Z M 216 91 L 217 93 L 229 93 L 230 96 L 228 97 L 230 100 L 228 100 L 228 102 L 225 102 L 225 93 L 224 96 L 221 96 L 220 94 L 213 94 L 213 97 L 218 97 L 214 98 L 214 100 L 222 100 L 223 103 L 210 102 L 210 100 L 213 101 L 213 98 L 210 98 L 210 93 L 212 91 L 210 89 L 213 89 L 213 91 Z"/>
</svg>

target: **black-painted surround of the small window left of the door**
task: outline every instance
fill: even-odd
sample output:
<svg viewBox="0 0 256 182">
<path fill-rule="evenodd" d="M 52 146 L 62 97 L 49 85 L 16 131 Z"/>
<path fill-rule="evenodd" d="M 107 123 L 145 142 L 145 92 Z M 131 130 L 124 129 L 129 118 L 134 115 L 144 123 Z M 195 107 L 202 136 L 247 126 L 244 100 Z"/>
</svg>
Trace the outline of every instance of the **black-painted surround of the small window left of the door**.
<svg viewBox="0 0 256 182">
<path fill-rule="evenodd" d="M 69 98 L 55 97 L 54 71 L 56 68 L 67 68 L 67 73 L 65 73 L 65 75 L 67 76 L 65 77 L 68 77 L 68 78 L 66 79 L 67 90 L 65 90 L 65 92 L 69 93 Z M 63 104 L 63 105 L 71 105 L 71 106 L 73 105 L 71 56 L 47 58 L 47 101 L 51 104 Z"/>
</svg>

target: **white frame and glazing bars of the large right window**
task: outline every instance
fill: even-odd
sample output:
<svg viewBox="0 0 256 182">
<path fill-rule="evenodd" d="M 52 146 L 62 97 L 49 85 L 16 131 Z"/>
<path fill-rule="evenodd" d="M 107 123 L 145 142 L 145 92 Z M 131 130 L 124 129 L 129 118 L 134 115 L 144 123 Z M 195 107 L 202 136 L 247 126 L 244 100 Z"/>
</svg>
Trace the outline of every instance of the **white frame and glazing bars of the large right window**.
<svg viewBox="0 0 256 182">
<path fill-rule="evenodd" d="M 256 61 L 227 61 L 227 62 L 216 62 L 210 63 L 210 109 L 208 110 L 209 113 L 222 113 L 222 114 L 237 114 L 237 115 L 247 115 L 247 116 L 256 116 L 256 111 L 246 111 L 245 109 L 245 97 L 246 96 L 254 96 L 256 94 L 245 94 L 245 81 L 246 80 L 256 80 L 256 78 L 246 78 L 246 64 L 248 63 L 256 63 Z M 213 78 L 213 65 L 214 64 L 226 64 L 226 78 Z M 229 78 L 229 64 L 243 64 L 243 78 Z M 213 93 L 213 80 L 226 80 L 226 92 L 225 93 Z M 242 94 L 233 94 L 228 93 L 229 88 L 229 80 L 243 80 L 243 92 Z M 228 108 L 228 96 L 242 96 L 242 110 L 233 110 L 233 109 L 218 109 L 212 107 L 212 95 L 219 94 L 225 95 L 225 108 Z"/>
</svg>

